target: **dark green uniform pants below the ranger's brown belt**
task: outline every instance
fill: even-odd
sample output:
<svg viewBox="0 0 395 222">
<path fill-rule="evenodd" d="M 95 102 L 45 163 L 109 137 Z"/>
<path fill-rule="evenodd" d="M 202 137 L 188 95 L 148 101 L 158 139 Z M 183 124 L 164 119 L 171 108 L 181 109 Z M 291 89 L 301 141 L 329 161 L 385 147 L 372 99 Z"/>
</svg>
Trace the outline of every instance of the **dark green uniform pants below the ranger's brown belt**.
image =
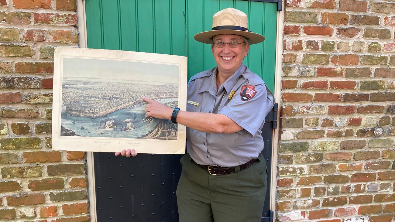
<svg viewBox="0 0 395 222">
<path fill-rule="evenodd" d="M 181 158 L 177 186 L 179 222 L 260 222 L 267 187 L 267 168 L 260 162 L 228 175 L 210 175 Z"/>
</svg>

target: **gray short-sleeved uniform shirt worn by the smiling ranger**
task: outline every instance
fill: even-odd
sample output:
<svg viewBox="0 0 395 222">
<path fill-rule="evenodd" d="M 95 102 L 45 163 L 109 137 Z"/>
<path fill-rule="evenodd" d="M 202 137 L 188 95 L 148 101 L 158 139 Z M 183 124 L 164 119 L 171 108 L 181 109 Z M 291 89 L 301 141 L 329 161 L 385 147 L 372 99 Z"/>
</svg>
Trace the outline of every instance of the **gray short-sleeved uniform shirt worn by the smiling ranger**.
<svg viewBox="0 0 395 222">
<path fill-rule="evenodd" d="M 263 80 L 244 64 L 218 91 L 216 71 L 215 67 L 190 79 L 186 111 L 221 113 L 243 130 L 232 134 L 210 134 L 187 127 L 186 147 L 197 164 L 239 166 L 258 158 L 263 150 L 261 129 L 274 105 L 274 97 Z"/>
</svg>

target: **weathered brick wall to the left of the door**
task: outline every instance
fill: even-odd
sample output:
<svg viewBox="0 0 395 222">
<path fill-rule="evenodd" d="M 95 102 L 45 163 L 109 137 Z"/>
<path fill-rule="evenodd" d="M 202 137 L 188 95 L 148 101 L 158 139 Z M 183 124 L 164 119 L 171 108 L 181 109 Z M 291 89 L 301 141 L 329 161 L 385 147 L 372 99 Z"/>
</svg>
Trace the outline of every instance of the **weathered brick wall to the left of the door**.
<svg viewBox="0 0 395 222">
<path fill-rule="evenodd" d="M 54 47 L 77 47 L 75 0 L 0 0 L 0 219 L 88 221 L 83 152 L 51 150 Z"/>
</svg>

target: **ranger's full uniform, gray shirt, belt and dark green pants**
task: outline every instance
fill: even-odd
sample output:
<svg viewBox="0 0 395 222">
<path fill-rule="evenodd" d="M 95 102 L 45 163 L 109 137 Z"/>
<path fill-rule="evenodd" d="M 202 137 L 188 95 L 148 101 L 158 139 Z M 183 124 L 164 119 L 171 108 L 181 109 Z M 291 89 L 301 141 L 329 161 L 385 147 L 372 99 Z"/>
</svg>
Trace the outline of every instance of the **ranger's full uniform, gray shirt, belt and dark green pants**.
<svg viewBox="0 0 395 222">
<path fill-rule="evenodd" d="M 190 79 L 186 111 L 220 113 L 243 130 L 211 134 L 186 129 L 188 154 L 181 159 L 177 187 L 180 222 L 237 222 L 260 217 L 253 214 L 263 209 L 267 169 L 260 154 L 261 129 L 274 105 L 273 94 L 244 64 L 218 91 L 216 72 L 213 68 Z"/>
</svg>

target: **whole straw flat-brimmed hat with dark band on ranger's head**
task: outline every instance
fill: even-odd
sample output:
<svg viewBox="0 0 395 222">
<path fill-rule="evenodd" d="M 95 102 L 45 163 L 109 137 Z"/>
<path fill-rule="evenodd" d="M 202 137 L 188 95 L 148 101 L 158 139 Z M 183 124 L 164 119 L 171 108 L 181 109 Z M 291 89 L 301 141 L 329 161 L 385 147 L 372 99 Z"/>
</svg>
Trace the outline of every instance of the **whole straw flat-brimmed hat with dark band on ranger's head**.
<svg viewBox="0 0 395 222">
<path fill-rule="evenodd" d="M 211 31 L 200 32 L 194 36 L 196 41 L 213 44 L 213 36 L 221 34 L 233 34 L 244 36 L 249 44 L 260 43 L 265 37 L 248 30 L 246 13 L 235 8 L 226 8 L 218 11 L 213 16 Z"/>
</svg>

